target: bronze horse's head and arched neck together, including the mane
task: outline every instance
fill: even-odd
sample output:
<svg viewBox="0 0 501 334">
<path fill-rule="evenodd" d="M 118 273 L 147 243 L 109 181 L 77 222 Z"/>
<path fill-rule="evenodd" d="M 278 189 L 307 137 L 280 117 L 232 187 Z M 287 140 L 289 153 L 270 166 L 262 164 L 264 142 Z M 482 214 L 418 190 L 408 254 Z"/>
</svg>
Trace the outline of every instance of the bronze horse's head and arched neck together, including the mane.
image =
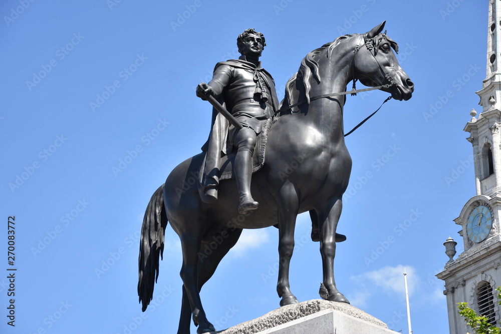
<svg viewBox="0 0 501 334">
<path fill-rule="evenodd" d="M 298 104 L 301 99 L 309 104 L 312 96 L 341 92 L 352 79 L 368 87 L 383 86 L 380 89 L 395 100 L 409 100 L 414 84 L 398 64 L 397 43 L 381 33 L 385 23 L 366 34 L 340 36 L 306 55 L 287 82 L 282 105 Z"/>
</svg>

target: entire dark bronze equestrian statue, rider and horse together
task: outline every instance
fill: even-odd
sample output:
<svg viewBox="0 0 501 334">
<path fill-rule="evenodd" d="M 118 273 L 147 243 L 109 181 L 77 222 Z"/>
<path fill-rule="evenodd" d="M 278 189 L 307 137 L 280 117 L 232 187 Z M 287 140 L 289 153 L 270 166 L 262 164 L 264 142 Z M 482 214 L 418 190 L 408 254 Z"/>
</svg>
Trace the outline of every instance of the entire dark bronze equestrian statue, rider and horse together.
<svg viewBox="0 0 501 334">
<path fill-rule="evenodd" d="M 198 334 L 215 330 L 202 306 L 200 289 L 236 244 L 243 229 L 279 228 L 277 293 L 280 305 L 299 302 L 291 290 L 289 274 L 297 217 L 307 211 L 312 224 L 318 225 L 320 231 L 322 285 L 319 294 L 330 301 L 349 302 L 334 279 L 336 242 L 341 241 L 337 228 L 352 166 L 343 131 L 344 95 L 349 93 L 346 86 L 352 80 L 360 80 L 366 86 L 391 93 L 392 98 L 399 101 L 409 100 L 414 91 L 414 84 L 395 56 L 397 44 L 382 33 L 384 25 L 383 22 L 366 34 L 338 37 L 303 59 L 298 73 L 286 85 L 282 107 L 285 111 L 299 106 L 300 112 L 282 111 L 275 119 L 267 137 L 265 167 L 252 176 L 254 198 L 266 205 L 254 211 L 251 210 L 258 203 L 249 191 L 250 153 L 264 120 L 277 110 L 277 98 L 273 79 L 258 62 L 265 46 L 263 36 L 255 31 L 241 35 L 238 45 L 242 59 L 219 63 L 213 80 L 197 92 L 219 112 L 213 113 L 206 152 L 177 165 L 154 192 L 146 208 L 138 261 L 138 295 L 143 311 L 153 300 L 168 225 L 179 235 L 183 254 L 178 334 L 189 333 L 191 321 L 198 326 Z M 211 94 L 221 98 L 230 112 Z M 223 114 L 224 118 L 220 117 Z M 267 128 L 263 132 L 266 133 Z M 232 162 L 231 154 L 219 161 L 212 160 L 213 157 L 220 159 L 221 152 L 227 152 L 226 140 L 230 143 L 228 148 L 238 149 L 237 159 Z M 293 159 L 297 161 L 299 156 L 304 163 L 298 163 L 284 179 L 284 166 Z M 210 166 L 219 169 L 220 163 L 236 171 L 238 190 L 233 182 L 222 182 L 219 189 L 223 191 L 216 200 L 219 173 Z M 206 203 L 210 199 L 201 187 L 198 191 L 179 191 L 193 175 L 200 173 L 201 166 L 205 166 L 204 181 L 213 177 L 212 183 L 204 183 L 209 185 L 205 190 L 213 197 L 211 204 Z M 221 179 L 226 176 L 223 174 Z M 237 196 L 240 197 L 239 211 L 252 212 L 245 219 L 232 219 L 237 214 Z M 215 248 L 211 246 L 212 251 L 201 258 L 203 249 L 219 235 L 221 242 L 218 241 Z M 241 290 L 241 298 L 252 297 L 248 291 L 245 293 L 245 285 Z"/>
</svg>

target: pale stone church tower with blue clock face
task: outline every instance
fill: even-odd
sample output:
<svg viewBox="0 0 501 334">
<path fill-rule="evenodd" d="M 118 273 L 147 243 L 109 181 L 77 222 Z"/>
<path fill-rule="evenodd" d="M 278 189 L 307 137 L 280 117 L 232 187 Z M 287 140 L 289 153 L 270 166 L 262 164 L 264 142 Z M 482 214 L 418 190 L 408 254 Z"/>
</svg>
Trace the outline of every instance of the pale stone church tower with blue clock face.
<svg viewBox="0 0 501 334">
<path fill-rule="evenodd" d="M 501 285 L 501 2 L 489 0 L 487 65 L 480 97 L 482 111 L 472 109 L 464 131 L 473 148 L 476 195 L 462 208 L 454 222 L 464 251 L 453 260 L 456 242 L 444 243 L 450 260 L 436 276 L 445 282 L 449 332 L 466 333 L 457 303 L 467 302 L 491 324 L 501 324 L 495 288 Z M 461 241 L 459 241 L 461 242 Z"/>
</svg>

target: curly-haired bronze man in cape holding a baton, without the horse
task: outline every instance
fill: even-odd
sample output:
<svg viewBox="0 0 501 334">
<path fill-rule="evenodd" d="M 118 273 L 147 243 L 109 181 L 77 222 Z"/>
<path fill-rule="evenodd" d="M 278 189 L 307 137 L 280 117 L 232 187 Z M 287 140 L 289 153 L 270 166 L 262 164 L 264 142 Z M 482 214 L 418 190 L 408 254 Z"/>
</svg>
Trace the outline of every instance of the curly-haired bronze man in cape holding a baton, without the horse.
<svg viewBox="0 0 501 334">
<path fill-rule="evenodd" d="M 208 84 L 201 83 L 196 95 L 202 100 L 207 95 L 218 98 L 242 125 L 238 130 L 214 111 L 202 167 L 201 183 L 205 195 L 202 199 L 207 202 L 217 199 L 220 154 L 228 154 L 236 149 L 233 173 L 240 197 L 238 212 L 243 214 L 259 206 L 250 194 L 252 155 L 257 136 L 266 121 L 278 110 L 279 102 L 275 82 L 259 61 L 266 46 L 263 34 L 247 29 L 238 36 L 237 46 L 241 56 L 217 63 L 212 80 Z"/>
</svg>

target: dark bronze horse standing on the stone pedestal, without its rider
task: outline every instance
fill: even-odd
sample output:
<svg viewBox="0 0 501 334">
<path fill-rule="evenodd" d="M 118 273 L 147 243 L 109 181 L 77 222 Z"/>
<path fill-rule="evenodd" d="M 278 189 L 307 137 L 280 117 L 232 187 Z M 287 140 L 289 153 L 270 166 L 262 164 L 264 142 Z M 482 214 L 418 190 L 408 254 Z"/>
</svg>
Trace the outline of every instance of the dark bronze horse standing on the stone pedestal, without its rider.
<svg viewBox="0 0 501 334">
<path fill-rule="evenodd" d="M 186 187 L 198 175 L 203 153 L 174 168 L 151 197 L 144 215 L 138 283 L 143 311 L 153 297 L 167 222 L 179 235 L 183 256 L 178 334 L 189 333 L 190 317 L 198 326 L 197 333 L 215 330 L 199 292 L 244 228 L 279 228 L 280 305 L 297 303 L 289 286 L 289 264 L 296 218 L 307 211 L 318 223 L 320 234 L 321 297 L 349 302 L 334 280 L 336 228 L 352 166 L 343 128 L 346 85 L 359 80 L 365 86 L 380 86 L 399 101 L 409 100 L 414 91 L 392 51 L 398 53 L 398 45 L 381 33 L 384 24 L 366 34 L 341 36 L 310 52 L 288 81 L 286 97 L 268 133 L 265 164 L 252 177 L 253 197 L 263 203 L 259 209 L 238 214 L 234 179 L 220 182 L 219 199 L 213 204 L 201 201 L 196 184 Z M 204 252 L 210 245 L 212 252 Z"/>
</svg>

